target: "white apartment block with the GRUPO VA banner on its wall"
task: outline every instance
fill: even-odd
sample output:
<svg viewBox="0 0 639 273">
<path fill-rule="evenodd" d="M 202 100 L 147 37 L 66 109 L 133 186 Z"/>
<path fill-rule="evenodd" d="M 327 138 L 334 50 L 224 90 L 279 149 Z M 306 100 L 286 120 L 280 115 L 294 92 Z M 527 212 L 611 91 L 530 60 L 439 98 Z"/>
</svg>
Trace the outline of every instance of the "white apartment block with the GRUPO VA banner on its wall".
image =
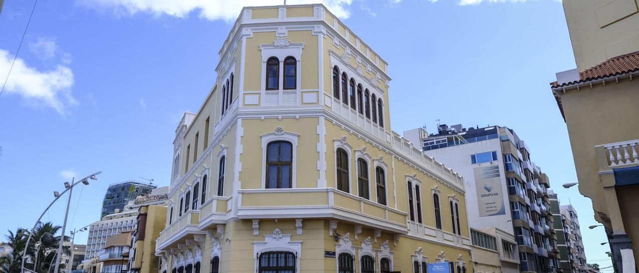
<svg viewBox="0 0 639 273">
<path fill-rule="evenodd" d="M 417 128 L 404 137 L 464 177 L 470 228 L 503 231 L 497 244 L 502 272 L 556 271 L 550 181 L 514 130 L 438 124 L 437 133 Z M 516 259 L 509 258 L 511 246 Z"/>
</svg>

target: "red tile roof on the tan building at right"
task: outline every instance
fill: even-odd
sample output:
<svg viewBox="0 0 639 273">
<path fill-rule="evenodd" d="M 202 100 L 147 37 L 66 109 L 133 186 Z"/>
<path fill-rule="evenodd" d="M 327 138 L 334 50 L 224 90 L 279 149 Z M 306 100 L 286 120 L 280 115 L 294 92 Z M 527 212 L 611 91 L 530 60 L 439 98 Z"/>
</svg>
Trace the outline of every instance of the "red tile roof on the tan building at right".
<svg viewBox="0 0 639 273">
<path fill-rule="evenodd" d="M 551 82 L 550 85 L 552 85 L 552 87 L 566 86 L 634 71 L 639 71 L 639 51 L 607 59 L 603 63 L 581 71 L 579 73 L 579 80 L 574 82 L 565 82 L 563 84 Z"/>
</svg>

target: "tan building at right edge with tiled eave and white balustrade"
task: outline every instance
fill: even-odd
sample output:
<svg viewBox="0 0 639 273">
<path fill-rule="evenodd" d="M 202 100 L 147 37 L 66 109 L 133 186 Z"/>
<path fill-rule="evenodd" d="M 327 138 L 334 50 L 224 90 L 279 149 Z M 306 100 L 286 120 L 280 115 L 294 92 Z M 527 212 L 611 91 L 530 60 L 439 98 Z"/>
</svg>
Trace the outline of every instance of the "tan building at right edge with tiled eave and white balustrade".
<svg viewBox="0 0 639 273">
<path fill-rule="evenodd" d="M 639 2 L 564 0 L 577 68 L 557 73 L 579 191 L 605 226 L 619 272 L 639 261 Z"/>
</svg>

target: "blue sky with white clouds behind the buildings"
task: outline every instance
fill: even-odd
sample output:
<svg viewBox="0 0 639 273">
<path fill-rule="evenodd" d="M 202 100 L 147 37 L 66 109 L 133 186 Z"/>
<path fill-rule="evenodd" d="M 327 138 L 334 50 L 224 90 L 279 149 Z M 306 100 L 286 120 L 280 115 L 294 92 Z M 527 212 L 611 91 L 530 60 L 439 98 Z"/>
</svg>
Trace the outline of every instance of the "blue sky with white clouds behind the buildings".
<svg viewBox="0 0 639 273">
<path fill-rule="evenodd" d="M 266 1 L 40 1 L 0 96 L 0 231 L 31 226 L 71 175 L 72 228 L 98 219 L 108 184 L 171 173 L 174 129 L 215 79 L 217 52 L 241 6 Z M 279 4 L 281 1 L 275 1 Z M 122 4 L 128 3 L 128 4 Z M 176 3 L 180 3 L 179 6 Z M 294 3 L 289 0 L 288 3 Z M 590 200 L 576 187 L 566 124 L 548 83 L 575 67 L 557 1 L 330 0 L 328 6 L 390 64 L 392 128 L 435 121 L 508 126 L 527 142 L 563 204 L 580 214 L 589 262 L 610 265 Z M 4 81 L 33 1 L 0 15 Z M 64 202 L 45 221 L 61 223 Z M 15 209 L 11 209 L 15 206 Z M 24 208 L 18 208 L 24 206 Z M 77 242 L 86 242 L 86 234 Z"/>
</svg>

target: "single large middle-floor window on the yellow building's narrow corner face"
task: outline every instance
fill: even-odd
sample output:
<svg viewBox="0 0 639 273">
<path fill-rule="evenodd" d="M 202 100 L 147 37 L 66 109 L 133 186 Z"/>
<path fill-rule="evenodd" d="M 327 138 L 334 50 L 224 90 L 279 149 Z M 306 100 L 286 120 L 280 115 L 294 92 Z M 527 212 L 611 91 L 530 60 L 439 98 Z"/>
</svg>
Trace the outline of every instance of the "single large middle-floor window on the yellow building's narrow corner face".
<svg viewBox="0 0 639 273">
<path fill-rule="evenodd" d="M 266 188 L 293 188 L 291 175 L 293 145 L 291 142 L 274 141 L 266 146 Z"/>
</svg>

